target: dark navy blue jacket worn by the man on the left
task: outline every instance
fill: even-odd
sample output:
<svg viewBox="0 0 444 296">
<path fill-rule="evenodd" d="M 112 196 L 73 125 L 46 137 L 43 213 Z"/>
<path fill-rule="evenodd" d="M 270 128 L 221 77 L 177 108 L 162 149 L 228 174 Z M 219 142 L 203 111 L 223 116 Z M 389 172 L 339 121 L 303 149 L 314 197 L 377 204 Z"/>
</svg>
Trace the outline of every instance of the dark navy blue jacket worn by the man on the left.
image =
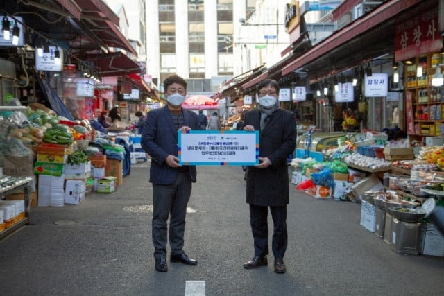
<svg viewBox="0 0 444 296">
<path fill-rule="evenodd" d="M 185 125 L 198 130 L 197 114 L 182 109 Z M 141 146 L 151 156 L 150 182 L 173 184 L 178 168 L 171 168 L 166 162 L 168 155 L 178 156 L 178 130 L 174 128 L 173 116 L 168 107 L 151 110 L 146 115 Z M 196 182 L 196 166 L 189 166 L 191 182 Z"/>
</svg>

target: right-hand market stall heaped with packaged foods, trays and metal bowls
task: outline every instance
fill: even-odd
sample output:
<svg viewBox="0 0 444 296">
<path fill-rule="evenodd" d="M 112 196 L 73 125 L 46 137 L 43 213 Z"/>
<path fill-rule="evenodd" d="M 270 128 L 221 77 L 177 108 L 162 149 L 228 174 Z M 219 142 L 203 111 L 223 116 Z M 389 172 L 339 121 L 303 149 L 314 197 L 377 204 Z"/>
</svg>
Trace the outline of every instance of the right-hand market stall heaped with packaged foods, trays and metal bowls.
<svg viewBox="0 0 444 296">
<path fill-rule="evenodd" d="M 397 254 L 444 256 L 444 236 L 427 218 L 444 206 L 444 146 L 376 142 L 349 139 L 324 150 L 322 161 L 293 159 L 291 182 L 315 198 L 359 202 L 360 225 Z"/>
</svg>

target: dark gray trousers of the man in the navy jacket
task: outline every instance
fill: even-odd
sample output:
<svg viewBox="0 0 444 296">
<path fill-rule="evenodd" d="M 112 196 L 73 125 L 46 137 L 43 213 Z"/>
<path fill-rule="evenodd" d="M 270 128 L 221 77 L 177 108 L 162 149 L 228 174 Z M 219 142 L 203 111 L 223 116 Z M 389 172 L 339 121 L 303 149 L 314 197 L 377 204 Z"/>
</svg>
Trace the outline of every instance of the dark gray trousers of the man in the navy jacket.
<svg viewBox="0 0 444 296">
<path fill-rule="evenodd" d="M 153 184 L 153 245 L 154 257 L 167 255 L 167 231 L 169 218 L 169 245 L 172 255 L 183 253 L 185 216 L 191 196 L 189 173 L 179 172 L 171 185 Z"/>
</svg>

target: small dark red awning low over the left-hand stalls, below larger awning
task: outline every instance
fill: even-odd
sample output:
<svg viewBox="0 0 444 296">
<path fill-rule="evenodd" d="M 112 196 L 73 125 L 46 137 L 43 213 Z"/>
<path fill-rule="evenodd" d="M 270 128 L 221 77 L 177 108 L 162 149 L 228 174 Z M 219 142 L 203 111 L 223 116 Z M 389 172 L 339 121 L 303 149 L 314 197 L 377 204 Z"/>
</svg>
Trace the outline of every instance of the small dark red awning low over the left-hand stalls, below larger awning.
<svg viewBox="0 0 444 296">
<path fill-rule="evenodd" d="M 107 55 L 89 55 L 87 60 L 94 62 L 94 68 L 100 69 L 101 76 L 123 76 L 142 72 L 139 64 L 120 51 Z"/>
</svg>

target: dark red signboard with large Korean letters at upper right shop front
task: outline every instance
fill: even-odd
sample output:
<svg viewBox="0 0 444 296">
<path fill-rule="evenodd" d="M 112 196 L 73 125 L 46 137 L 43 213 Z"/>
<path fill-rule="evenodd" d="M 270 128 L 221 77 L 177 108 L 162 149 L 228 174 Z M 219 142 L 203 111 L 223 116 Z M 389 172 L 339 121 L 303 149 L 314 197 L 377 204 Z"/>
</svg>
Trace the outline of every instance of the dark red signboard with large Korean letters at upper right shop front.
<svg viewBox="0 0 444 296">
<path fill-rule="evenodd" d="M 438 10 L 438 7 L 432 8 L 396 25 L 395 62 L 441 50 L 443 38 L 439 33 Z"/>
</svg>

